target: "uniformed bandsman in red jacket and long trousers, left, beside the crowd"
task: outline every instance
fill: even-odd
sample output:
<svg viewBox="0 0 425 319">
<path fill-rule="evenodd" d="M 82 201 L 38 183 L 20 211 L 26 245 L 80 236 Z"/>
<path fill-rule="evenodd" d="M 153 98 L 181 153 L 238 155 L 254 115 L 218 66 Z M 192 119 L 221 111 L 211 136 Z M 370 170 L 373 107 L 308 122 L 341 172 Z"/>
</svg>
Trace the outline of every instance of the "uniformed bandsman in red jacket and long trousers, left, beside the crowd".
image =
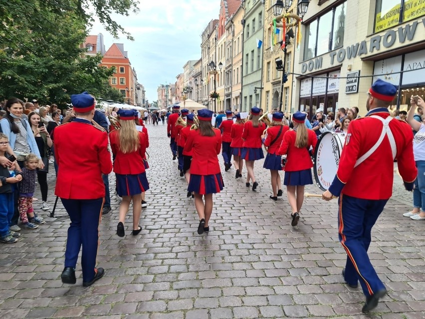
<svg viewBox="0 0 425 319">
<path fill-rule="evenodd" d="M 95 99 L 87 94 L 71 95 L 75 119 L 54 131 L 54 152 L 59 169 L 55 195 L 60 197 L 71 224 L 65 250 L 64 284 L 75 284 L 75 266 L 82 246 L 83 286 L 102 278 L 95 268 L 99 245 L 99 222 L 105 197 L 102 174 L 112 170 L 108 134 L 92 124 Z"/>
</svg>

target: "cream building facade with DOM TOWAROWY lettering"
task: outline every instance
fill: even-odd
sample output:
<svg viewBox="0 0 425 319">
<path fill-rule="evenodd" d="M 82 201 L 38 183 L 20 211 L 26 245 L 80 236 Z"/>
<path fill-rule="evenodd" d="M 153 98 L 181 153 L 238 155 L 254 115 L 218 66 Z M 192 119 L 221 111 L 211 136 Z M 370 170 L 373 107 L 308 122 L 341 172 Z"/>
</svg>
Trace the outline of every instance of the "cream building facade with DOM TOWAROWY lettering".
<svg viewBox="0 0 425 319">
<path fill-rule="evenodd" d="M 363 116 L 377 78 L 399 87 L 392 108 L 406 110 L 411 95 L 424 96 L 424 1 L 311 1 L 303 21 L 295 109 L 311 116 L 319 107 L 357 106 Z"/>
</svg>

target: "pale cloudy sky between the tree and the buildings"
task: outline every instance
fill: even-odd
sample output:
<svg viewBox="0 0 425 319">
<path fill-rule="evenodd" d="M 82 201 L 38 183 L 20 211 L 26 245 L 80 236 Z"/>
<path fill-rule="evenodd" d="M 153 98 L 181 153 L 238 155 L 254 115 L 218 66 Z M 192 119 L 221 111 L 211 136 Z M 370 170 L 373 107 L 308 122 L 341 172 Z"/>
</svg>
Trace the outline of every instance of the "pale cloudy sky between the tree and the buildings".
<svg viewBox="0 0 425 319">
<path fill-rule="evenodd" d="M 146 98 L 158 99 L 159 84 L 175 83 L 188 60 L 201 58 L 201 34 L 207 23 L 218 18 L 220 0 L 139 0 L 140 12 L 128 17 L 114 15 L 134 41 L 114 39 L 99 22 L 90 34 L 102 33 L 105 48 L 124 43 L 124 50 L 136 69 Z"/>
</svg>

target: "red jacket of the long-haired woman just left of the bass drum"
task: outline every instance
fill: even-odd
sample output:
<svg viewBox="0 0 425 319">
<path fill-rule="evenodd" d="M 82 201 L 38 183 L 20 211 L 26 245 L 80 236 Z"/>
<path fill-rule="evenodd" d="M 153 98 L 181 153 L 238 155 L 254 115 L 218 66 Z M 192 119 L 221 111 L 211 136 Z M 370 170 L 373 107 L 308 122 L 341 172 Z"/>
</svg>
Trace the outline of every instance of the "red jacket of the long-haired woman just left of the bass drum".
<svg viewBox="0 0 425 319">
<path fill-rule="evenodd" d="M 316 149 L 317 136 L 314 131 L 307 129 L 308 140 L 307 147 L 298 148 L 295 146 L 297 132 L 294 130 L 286 131 L 283 135 L 282 144 L 280 144 L 277 154 L 286 154 L 285 171 L 295 172 L 302 171 L 313 167 L 311 156 L 309 153 L 310 146 L 313 146 L 313 153 Z"/>
</svg>

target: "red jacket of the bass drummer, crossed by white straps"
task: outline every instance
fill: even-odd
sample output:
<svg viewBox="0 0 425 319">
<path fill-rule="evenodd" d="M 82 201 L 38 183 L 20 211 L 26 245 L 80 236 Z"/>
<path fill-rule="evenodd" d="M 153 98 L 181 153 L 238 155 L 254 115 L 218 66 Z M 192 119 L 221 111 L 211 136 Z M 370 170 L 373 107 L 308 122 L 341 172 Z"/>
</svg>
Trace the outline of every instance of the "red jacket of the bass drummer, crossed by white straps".
<svg viewBox="0 0 425 319">
<path fill-rule="evenodd" d="M 393 192 L 394 161 L 388 136 L 364 162 L 354 167 L 359 157 L 369 151 L 378 141 L 383 124 L 378 115 L 387 118 L 386 108 L 371 110 L 366 117 L 350 122 L 338 171 L 329 188 L 333 195 L 342 194 L 371 200 L 387 200 Z M 397 145 L 397 164 L 403 180 L 411 183 L 418 174 L 413 156 L 413 134 L 409 124 L 393 119 L 389 123 Z M 342 191 L 341 191 L 342 190 Z"/>
</svg>

